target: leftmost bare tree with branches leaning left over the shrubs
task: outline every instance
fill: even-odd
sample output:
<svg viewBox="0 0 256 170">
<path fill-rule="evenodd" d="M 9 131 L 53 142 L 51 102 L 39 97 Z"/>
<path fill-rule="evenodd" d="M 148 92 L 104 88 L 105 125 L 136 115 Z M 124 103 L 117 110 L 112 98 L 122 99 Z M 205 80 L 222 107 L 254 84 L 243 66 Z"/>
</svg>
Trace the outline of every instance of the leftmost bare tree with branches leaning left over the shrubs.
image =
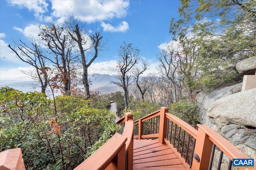
<svg viewBox="0 0 256 170">
<path fill-rule="evenodd" d="M 35 42 L 31 43 L 31 47 L 26 45 L 20 40 L 19 44 L 16 44 L 16 49 L 8 45 L 8 47 L 16 54 L 20 61 L 28 63 L 36 69 L 36 74 L 25 72 L 32 79 L 39 81 L 41 85 L 41 92 L 46 92 L 46 87 L 48 85 L 48 71 L 51 70 L 46 64 L 46 58 L 40 48 Z"/>
</svg>

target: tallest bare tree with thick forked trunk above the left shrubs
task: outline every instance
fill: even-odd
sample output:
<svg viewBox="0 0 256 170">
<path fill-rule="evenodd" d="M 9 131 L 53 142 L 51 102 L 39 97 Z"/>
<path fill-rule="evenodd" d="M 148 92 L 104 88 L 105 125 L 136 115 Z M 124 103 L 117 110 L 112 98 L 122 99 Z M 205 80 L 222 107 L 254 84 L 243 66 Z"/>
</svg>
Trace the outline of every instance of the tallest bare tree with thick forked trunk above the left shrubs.
<svg viewBox="0 0 256 170">
<path fill-rule="evenodd" d="M 86 24 L 80 20 L 75 19 L 71 16 L 66 21 L 66 27 L 68 28 L 68 33 L 70 37 L 76 41 L 79 52 L 81 56 L 82 66 L 83 66 L 83 84 L 85 89 L 86 98 L 90 97 L 90 88 L 88 81 L 88 68 L 93 63 L 93 61 L 98 57 L 98 51 L 100 47 L 105 44 L 102 43 L 102 35 L 100 32 L 88 33 L 86 29 Z M 86 56 L 87 54 L 87 56 Z M 88 58 L 90 55 L 90 59 Z"/>
</svg>

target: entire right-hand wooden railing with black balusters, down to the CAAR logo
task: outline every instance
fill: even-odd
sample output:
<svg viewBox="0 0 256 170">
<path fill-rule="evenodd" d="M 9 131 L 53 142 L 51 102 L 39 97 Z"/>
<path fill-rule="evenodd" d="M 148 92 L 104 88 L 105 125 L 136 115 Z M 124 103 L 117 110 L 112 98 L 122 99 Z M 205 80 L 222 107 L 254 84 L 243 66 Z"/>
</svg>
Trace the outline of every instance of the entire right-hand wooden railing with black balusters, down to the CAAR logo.
<svg viewBox="0 0 256 170">
<path fill-rule="evenodd" d="M 197 126 L 198 130 L 168 113 L 167 107 L 161 107 L 160 110 L 134 121 L 134 139 L 158 138 L 160 143 L 166 143 L 171 149 L 176 150 L 176 155 L 184 166 L 192 170 L 212 168 L 212 148 L 215 146 L 221 150 L 220 154 L 226 154 L 230 159 L 229 169 L 233 158 L 249 158 L 210 127 L 200 124 Z M 199 161 L 194 158 L 194 154 L 198 156 Z M 216 168 L 220 169 L 222 156 L 218 162 Z"/>
</svg>

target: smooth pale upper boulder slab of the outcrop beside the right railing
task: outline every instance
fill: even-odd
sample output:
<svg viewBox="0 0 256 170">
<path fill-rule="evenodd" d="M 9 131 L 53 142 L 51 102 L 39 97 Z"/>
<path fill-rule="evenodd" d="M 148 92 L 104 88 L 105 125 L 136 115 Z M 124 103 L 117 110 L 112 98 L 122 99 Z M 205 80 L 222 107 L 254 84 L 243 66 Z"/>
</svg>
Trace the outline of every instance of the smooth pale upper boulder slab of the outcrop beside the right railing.
<svg viewBox="0 0 256 170">
<path fill-rule="evenodd" d="M 216 100 L 207 115 L 214 118 L 214 124 L 256 127 L 256 88 Z"/>
</svg>

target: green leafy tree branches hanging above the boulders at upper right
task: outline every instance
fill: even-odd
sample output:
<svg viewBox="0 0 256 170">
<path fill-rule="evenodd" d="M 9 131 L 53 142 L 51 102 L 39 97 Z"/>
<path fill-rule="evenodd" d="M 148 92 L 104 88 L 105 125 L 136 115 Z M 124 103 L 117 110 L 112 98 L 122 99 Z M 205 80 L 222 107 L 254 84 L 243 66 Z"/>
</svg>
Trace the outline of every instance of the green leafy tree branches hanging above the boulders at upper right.
<svg viewBox="0 0 256 170">
<path fill-rule="evenodd" d="M 191 37 L 200 47 L 199 90 L 229 86 L 242 79 L 240 60 L 256 54 L 255 0 L 182 0 L 180 18 L 172 18 L 175 39 Z"/>
</svg>

